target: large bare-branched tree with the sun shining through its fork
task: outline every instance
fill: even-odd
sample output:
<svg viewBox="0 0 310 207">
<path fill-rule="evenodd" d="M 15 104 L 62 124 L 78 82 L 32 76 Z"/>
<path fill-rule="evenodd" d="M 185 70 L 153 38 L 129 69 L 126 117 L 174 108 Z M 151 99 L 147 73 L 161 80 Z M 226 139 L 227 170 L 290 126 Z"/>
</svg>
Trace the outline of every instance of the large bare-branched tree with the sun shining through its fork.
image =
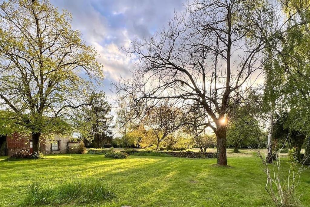
<svg viewBox="0 0 310 207">
<path fill-rule="evenodd" d="M 266 44 L 248 38 L 253 37 L 254 22 L 247 12 L 255 6 L 250 1 L 196 0 L 187 5 L 186 14 L 175 15 L 167 29 L 124 49 L 136 57 L 138 66 L 133 79 L 121 80 L 117 89 L 136 97 L 135 103 L 155 106 L 169 100 L 184 111 L 200 112 L 193 127 L 214 131 L 220 165 L 227 165 L 230 111 L 262 65 L 258 59 Z M 263 16 L 255 18 L 259 22 Z"/>
</svg>

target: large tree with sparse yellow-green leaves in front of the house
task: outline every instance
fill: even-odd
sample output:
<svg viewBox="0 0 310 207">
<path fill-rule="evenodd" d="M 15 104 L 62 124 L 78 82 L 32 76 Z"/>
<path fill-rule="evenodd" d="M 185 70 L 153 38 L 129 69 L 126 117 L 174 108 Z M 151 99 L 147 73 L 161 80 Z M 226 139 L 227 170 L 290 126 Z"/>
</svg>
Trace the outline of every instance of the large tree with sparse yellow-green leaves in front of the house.
<svg viewBox="0 0 310 207">
<path fill-rule="evenodd" d="M 47 0 L 0 5 L 0 104 L 32 133 L 34 152 L 41 134 L 72 128 L 92 79 L 103 78 L 96 51 L 70 22 Z"/>
</svg>

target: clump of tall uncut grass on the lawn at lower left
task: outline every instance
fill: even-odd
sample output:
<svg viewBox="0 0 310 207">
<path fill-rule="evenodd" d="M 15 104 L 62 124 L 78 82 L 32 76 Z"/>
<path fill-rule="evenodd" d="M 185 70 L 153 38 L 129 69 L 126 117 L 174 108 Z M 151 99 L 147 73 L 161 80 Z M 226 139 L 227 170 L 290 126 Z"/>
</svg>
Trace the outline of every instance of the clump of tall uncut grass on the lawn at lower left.
<svg viewBox="0 0 310 207">
<path fill-rule="evenodd" d="M 25 204 L 29 205 L 60 205 L 95 203 L 115 197 L 113 188 L 96 179 L 77 179 L 51 186 L 33 183 L 26 187 Z"/>
</svg>

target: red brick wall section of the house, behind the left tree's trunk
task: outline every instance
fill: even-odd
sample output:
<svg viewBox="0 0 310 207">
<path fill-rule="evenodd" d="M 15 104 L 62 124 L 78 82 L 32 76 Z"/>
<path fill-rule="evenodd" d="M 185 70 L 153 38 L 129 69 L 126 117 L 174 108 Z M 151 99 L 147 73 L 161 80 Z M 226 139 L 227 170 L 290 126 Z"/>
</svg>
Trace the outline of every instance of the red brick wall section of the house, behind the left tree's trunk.
<svg viewBox="0 0 310 207">
<path fill-rule="evenodd" d="M 14 151 L 20 149 L 28 149 L 30 150 L 31 136 L 21 136 L 18 133 L 14 133 L 12 136 L 7 136 L 7 151 L 10 156 Z M 45 153 L 45 139 L 40 143 L 41 152 Z"/>
</svg>

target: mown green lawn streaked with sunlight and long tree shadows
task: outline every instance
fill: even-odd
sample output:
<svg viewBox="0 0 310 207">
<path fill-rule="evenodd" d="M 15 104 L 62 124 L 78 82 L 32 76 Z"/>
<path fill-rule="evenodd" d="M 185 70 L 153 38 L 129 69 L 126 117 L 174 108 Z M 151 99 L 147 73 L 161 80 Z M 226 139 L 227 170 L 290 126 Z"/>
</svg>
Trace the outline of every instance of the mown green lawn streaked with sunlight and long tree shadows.
<svg viewBox="0 0 310 207">
<path fill-rule="evenodd" d="M 216 166 L 215 159 L 175 157 L 67 154 L 10 162 L 0 157 L 0 206 L 23 206 L 24 188 L 34 181 L 54 185 L 90 177 L 106 181 L 117 196 L 88 206 L 272 206 L 260 160 L 243 152 L 228 153 L 231 167 Z M 302 204 L 310 206 L 310 170 L 303 172 L 299 192 Z"/>
</svg>

